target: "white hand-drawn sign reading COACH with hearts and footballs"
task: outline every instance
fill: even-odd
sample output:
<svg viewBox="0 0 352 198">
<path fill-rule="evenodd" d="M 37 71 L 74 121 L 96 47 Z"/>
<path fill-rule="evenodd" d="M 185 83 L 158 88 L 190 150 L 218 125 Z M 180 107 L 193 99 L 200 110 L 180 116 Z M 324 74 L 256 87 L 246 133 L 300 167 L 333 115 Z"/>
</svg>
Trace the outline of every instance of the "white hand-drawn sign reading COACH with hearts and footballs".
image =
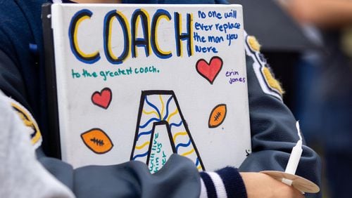
<svg viewBox="0 0 352 198">
<path fill-rule="evenodd" d="M 61 155 L 75 167 L 172 154 L 199 171 L 251 151 L 238 5 L 54 4 Z"/>
</svg>

